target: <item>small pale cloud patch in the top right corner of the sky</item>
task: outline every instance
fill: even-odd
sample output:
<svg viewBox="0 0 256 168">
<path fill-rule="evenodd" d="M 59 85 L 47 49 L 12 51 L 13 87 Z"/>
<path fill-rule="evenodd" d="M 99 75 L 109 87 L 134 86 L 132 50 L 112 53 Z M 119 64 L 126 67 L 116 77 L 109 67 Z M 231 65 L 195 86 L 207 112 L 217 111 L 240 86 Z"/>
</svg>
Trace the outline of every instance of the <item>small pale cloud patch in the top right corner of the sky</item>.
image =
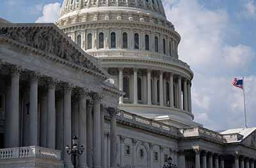
<svg viewBox="0 0 256 168">
<path fill-rule="evenodd" d="M 244 0 L 243 11 L 239 13 L 239 17 L 256 19 L 256 4 L 254 0 Z"/>
</svg>

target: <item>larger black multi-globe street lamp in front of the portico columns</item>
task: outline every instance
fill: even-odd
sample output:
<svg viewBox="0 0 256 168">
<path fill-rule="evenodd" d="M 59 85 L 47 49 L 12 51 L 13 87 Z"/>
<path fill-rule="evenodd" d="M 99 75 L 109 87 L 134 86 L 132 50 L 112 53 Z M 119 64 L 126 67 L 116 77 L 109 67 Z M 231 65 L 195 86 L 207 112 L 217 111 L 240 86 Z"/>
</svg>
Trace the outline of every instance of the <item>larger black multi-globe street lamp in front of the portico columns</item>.
<svg viewBox="0 0 256 168">
<path fill-rule="evenodd" d="M 71 155 L 72 158 L 72 165 L 74 165 L 74 168 L 76 168 L 76 157 L 77 155 L 82 155 L 84 151 L 84 146 L 81 145 L 79 147 L 78 145 L 78 138 L 76 136 L 72 139 L 72 146 L 71 148 L 69 146 L 66 146 L 65 150 L 67 151 L 68 155 Z"/>
</svg>

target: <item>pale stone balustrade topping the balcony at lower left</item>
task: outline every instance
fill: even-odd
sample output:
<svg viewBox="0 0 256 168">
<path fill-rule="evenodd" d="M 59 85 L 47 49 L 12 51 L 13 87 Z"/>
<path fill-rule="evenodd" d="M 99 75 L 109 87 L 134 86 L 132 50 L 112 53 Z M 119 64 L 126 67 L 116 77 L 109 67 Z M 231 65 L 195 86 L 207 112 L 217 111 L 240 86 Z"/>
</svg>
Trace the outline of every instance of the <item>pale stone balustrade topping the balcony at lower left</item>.
<svg viewBox="0 0 256 168">
<path fill-rule="evenodd" d="M 61 160 L 61 151 L 39 146 L 0 149 L 0 160 L 11 158 L 52 158 Z"/>
</svg>

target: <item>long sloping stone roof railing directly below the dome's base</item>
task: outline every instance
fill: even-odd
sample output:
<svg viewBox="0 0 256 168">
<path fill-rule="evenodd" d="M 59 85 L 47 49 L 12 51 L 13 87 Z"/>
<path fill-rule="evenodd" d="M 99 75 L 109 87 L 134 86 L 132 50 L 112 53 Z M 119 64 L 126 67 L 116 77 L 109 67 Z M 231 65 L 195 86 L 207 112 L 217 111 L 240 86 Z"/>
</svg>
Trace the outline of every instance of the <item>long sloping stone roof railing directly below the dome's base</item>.
<svg viewBox="0 0 256 168">
<path fill-rule="evenodd" d="M 134 123 L 134 125 L 137 125 L 140 128 L 145 128 L 150 131 L 158 132 L 158 133 L 162 132 L 163 134 L 169 135 L 169 136 L 176 136 L 176 137 L 179 136 L 177 128 L 161 122 L 156 122 L 154 120 L 150 120 L 142 116 L 134 115 L 132 113 L 127 113 L 125 111 L 119 111 L 117 116 L 120 120 L 124 122 Z"/>
</svg>

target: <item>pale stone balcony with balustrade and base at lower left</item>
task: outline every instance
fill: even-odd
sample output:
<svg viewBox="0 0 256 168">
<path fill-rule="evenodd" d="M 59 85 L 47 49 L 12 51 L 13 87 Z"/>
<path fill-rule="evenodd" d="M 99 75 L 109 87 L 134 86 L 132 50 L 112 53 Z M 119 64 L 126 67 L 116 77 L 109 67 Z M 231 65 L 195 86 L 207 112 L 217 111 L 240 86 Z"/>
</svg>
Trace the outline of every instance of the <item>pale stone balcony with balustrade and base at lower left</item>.
<svg viewBox="0 0 256 168">
<path fill-rule="evenodd" d="M 61 151 L 39 146 L 0 149 L 0 168 L 5 167 L 61 168 Z"/>
</svg>

